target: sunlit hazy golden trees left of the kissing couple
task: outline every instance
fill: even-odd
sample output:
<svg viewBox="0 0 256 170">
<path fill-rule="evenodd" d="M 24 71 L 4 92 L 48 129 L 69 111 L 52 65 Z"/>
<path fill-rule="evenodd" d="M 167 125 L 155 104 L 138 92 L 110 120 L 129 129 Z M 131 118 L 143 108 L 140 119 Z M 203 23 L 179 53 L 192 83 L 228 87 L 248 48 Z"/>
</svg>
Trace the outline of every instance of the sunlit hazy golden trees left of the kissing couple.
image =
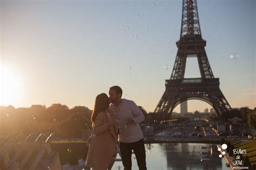
<svg viewBox="0 0 256 170">
<path fill-rule="evenodd" d="M 82 137 L 82 130 L 91 129 L 92 110 L 77 106 L 52 104 L 49 108 L 33 105 L 30 108 L 0 107 L 3 133 L 54 132 L 57 137 Z"/>
</svg>

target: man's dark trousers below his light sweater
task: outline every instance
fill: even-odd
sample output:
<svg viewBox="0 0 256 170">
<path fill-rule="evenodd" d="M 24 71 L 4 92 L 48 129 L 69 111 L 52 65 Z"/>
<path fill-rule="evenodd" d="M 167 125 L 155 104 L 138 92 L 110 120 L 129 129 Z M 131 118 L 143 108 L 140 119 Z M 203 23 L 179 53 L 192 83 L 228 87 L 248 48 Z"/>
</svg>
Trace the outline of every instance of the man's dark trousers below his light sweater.
<svg viewBox="0 0 256 170">
<path fill-rule="evenodd" d="M 122 162 L 124 165 L 124 170 L 131 170 L 132 169 L 132 150 L 136 155 L 137 164 L 139 170 L 146 170 L 146 153 L 145 153 L 145 146 L 144 140 L 141 139 L 139 141 L 133 143 L 119 143 L 120 152 L 122 156 Z"/>
</svg>

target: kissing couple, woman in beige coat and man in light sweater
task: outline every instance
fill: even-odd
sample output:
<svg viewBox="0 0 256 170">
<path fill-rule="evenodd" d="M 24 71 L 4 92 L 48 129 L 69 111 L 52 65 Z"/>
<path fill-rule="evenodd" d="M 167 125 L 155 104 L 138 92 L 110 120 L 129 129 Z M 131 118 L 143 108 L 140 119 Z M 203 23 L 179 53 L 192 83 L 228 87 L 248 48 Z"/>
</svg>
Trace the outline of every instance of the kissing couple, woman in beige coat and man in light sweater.
<svg viewBox="0 0 256 170">
<path fill-rule="evenodd" d="M 139 123 L 144 115 L 136 103 L 121 98 L 123 90 L 113 86 L 109 97 L 99 94 L 91 115 L 92 134 L 88 140 L 89 151 L 86 167 L 93 170 L 111 169 L 115 161 L 117 140 L 125 170 L 132 167 L 132 150 L 139 170 L 146 170 L 146 154 L 143 133 Z"/>
</svg>

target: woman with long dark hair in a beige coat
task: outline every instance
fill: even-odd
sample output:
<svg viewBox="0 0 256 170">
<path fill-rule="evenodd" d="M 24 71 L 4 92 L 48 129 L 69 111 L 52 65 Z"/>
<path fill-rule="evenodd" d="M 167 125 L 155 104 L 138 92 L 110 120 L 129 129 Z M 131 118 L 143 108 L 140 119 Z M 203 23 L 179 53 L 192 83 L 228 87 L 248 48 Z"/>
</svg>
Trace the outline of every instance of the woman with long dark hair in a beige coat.
<svg viewBox="0 0 256 170">
<path fill-rule="evenodd" d="M 86 158 L 86 167 L 93 170 L 111 169 L 117 145 L 117 120 L 109 112 L 109 97 L 105 93 L 96 97 L 91 115 L 92 136 Z"/>
</svg>

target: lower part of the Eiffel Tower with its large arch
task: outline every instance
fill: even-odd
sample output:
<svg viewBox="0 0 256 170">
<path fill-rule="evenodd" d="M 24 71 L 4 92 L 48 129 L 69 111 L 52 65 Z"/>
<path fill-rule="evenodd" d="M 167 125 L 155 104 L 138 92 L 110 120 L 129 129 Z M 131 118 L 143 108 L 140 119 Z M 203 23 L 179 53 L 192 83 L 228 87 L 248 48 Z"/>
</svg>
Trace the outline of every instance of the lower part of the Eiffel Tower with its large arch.
<svg viewBox="0 0 256 170">
<path fill-rule="evenodd" d="M 154 112 L 159 120 L 168 119 L 178 104 L 187 100 L 201 100 L 210 104 L 218 118 L 224 111 L 231 109 L 219 88 L 219 79 L 166 80 L 166 90 Z"/>
</svg>

